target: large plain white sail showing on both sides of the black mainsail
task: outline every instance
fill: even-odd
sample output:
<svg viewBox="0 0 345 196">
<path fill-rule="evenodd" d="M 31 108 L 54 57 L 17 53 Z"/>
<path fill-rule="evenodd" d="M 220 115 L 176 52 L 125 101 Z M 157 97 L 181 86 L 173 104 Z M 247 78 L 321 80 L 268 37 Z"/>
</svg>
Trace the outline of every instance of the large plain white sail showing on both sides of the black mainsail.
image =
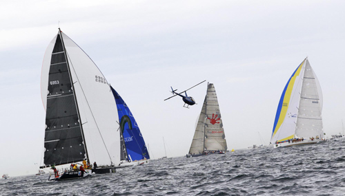
<svg viewBox="0 0 345 196">
<path fill-rule="evenodd" d="M 57 36 L 62 37 L 66 49 L 88 157 L 99 165 L 119 164 L 120 138 L 117 132 L 119 119 L 110 85 L 97 65 L 75 42 L 63 32 L 59 31 Z M 41 96 L 45 109 L 50 59 L 57 36 L 48 45 L 43 58 Z"/>
</svg>

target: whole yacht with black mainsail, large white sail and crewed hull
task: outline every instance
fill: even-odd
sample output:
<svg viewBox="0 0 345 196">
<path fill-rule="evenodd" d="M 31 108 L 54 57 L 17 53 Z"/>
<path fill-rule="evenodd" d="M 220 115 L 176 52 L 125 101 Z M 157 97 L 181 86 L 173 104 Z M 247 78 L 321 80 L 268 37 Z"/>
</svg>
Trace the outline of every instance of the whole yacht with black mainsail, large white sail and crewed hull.
<svg viewBox="0 0 345 196">
<path fill-rule="evenodd" d="M 44 166 L 61 169 L 52 180 L 112 173 L 120 162 L 117 107 L 108 81 L 88 54 L 59 29 L 47 47 L 41 73 L 46 109 Z M 86 172 L 70 164 L 97 162 Z"/>
</svg>

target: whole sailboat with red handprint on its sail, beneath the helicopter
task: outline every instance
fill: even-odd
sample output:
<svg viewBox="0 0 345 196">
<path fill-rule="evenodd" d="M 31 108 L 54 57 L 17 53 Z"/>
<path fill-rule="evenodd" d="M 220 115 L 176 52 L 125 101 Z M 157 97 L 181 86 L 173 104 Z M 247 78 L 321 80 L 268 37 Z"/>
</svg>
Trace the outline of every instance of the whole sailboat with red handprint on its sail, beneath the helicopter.
<svg viewBox="0 0 345 196">
<path fill-rule="evenodd" d="M 209 83 L 193 142 L 186 156 L 197 157 L 207 153 L 224 153 L 227 148 L 215 86 Z"/>
</svg>

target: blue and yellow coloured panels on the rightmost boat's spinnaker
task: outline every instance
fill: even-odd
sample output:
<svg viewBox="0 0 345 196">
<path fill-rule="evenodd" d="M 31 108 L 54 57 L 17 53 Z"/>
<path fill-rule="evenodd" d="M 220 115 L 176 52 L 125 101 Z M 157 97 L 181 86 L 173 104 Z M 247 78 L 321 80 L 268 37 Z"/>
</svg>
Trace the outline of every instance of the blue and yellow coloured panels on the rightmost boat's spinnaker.
<svg viewBox="0 0 345 196">
<path fill-rule="evenodd" d="M 297 82 L 296 78 L 301 73 L 302 67 L 304 65 L 304 61 L 295 69 L 295 72 L 291 75 L 288 79 L 288 83 L 286 83 L 282 96 L 280 97 L 277 113 L 275 114 L 275 122 L 273 124 L 273 131 L 272 131 L 272 138 L 277 133 L 277 131 L 281 128 L 282 123 L 284 122 L 286 115 L 288 113 L 288 107 L 290 103 L 291 96 L 293 94 L 293 88 L 295 87 L 295 83 Z M 287 135 L 286 135 L 287 136 Z M 289 135 L 286 138 L 281 138 L 279 141 L 292 139 L 294 136 Z"/>
</svg>

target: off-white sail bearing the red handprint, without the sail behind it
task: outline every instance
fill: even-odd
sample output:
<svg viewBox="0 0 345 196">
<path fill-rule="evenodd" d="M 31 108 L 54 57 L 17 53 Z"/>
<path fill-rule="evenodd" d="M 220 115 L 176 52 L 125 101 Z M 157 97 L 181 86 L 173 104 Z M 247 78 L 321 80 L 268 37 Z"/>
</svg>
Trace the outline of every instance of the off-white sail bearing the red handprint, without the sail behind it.
<svg viewBox="0 0 345 196">
<path fill-rule="evenodd" d="M 208 84 L 206 98 L 205 149 L 207 151 L 226 151 L 228 147 L 226 146 L 223 121 L 213 84 Z"/>
</svg>

